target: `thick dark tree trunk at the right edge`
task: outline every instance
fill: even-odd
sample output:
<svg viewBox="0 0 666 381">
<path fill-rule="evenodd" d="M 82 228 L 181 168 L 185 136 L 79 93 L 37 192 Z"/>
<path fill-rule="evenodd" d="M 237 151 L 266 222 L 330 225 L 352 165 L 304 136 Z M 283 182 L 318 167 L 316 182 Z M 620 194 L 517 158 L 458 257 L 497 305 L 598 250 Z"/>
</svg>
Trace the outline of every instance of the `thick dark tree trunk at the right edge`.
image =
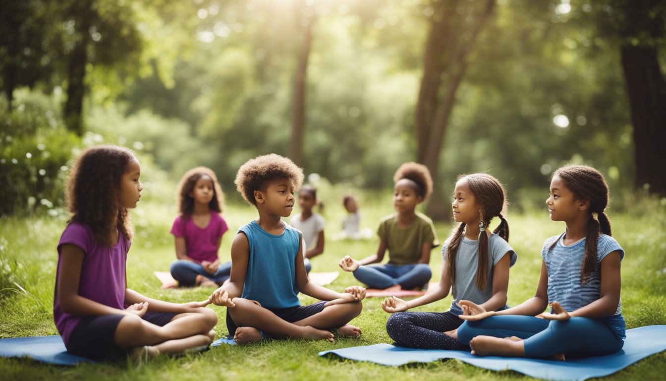
<svg viewBox="0 0 666 381">
<path fill-rule="evenodd" d="M 633 123 L 636 186 L 666 196 L 666 82 L 657 48 L 623 45 L 621 57 Z"/>
</svg>

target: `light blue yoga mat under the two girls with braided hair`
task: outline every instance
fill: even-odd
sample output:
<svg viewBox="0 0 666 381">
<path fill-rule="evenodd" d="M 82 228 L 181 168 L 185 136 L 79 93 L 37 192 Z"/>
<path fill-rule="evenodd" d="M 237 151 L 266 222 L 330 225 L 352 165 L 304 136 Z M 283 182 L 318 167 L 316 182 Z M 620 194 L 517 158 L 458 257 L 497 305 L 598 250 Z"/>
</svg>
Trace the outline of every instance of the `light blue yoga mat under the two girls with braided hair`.
<svg viewBox="0 0 666 381">
<path fill-rule="evenodd" d="M 603 377 L 650 356 L 666 350 L 666 326 L 645 326 L 627 330 L 624 348 L 608 356 L 572 358 L 567 361 L 533 360 L 527 358 L 480 357 L 456 350 L 418 350 L 390 344 L 356 346 L 326 350 L 319 356 L 335 354 L 341 358 L 369 361 L 386 366 L 400 366 L 414 362 L 433 362 L 444 358 L 457 358 L 480 368 L 515 370 L 527 376 L 547 380 L 582 381 Z"/>
</svg>

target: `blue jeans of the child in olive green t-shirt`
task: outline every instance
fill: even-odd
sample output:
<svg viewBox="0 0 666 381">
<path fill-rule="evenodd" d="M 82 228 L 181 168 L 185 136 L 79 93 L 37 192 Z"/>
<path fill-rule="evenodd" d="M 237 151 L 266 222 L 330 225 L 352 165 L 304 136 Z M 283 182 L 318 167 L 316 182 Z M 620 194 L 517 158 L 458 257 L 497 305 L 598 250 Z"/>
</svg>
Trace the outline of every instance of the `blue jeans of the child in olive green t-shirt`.
<svg viewBox="0 0 666 381">
<path fill-rule="evenodd" d="M 432 272 L 427 264 L 367 265 L 358 266 L 354 278 L 366 284 L 368 288 L 384 289 L 400 284 L 402 288 L 410 290 L 427 286 L 432 278 Z"/>
</svg>

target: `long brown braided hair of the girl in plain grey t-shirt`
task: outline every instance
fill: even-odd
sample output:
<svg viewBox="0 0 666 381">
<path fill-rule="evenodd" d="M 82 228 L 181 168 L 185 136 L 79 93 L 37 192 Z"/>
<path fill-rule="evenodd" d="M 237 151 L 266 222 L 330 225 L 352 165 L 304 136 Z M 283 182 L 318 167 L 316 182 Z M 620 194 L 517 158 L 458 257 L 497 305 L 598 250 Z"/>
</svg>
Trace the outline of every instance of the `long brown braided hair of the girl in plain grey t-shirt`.
<svg viewBox="0 0 666 381">
<path fill-rule="evenodd" d="M 481 220 L 485 226 L 490 224 L 493 218 L 499 217 L 501 222 L 493 233 L 498 234 L 506 242 L 509 242 L 509 223 L 502 216 L 502 212 L 507 207 L 504 187 L 500 181 L 488 173 L 472 173 L 470 175 L 460 175 L 457 181 L 466 181 L 467 185 L 476 198 L 476 204 L 481 209 Z M 448 276 L 453 285 L 456 284 L 456 252 L 462 242 L 465 233 L 464 222 L 454 228 L 451 234 L 449 244 L 446 248 L 446 259 L 448 264 Z M 488 234 L 479 233 L 479 252 L 478 268 L 476 270 L 476 287 L 479 290 L 485 290 L 488 286 Z M 455 288 L 455 286 L 452 286 Z"/>
</svg>

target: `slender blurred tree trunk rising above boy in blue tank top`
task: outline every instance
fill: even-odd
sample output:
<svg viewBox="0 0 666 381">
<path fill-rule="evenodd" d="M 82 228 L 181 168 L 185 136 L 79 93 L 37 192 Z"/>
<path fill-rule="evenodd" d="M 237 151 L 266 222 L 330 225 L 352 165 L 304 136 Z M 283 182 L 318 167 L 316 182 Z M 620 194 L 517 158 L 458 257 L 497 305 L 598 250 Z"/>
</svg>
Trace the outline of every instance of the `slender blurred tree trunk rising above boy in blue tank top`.
<svg viewBox="0 0 666 381">
<path fill-rule="evenodd" d="M 299 20 L 300 21 L 300 20 Z M 303 43 L 298 52 L 298 64 L 294 75 L 294 99 L 292 99 L 292 135 L 289 156 L 296 165 L 303 165 L 303 135 L 305 132 L 305 95 L 308 75 L 308 58 L 312 45 L 312 23 L 314 18 L 306 19 L 303 27 Z"/>
</svg>

